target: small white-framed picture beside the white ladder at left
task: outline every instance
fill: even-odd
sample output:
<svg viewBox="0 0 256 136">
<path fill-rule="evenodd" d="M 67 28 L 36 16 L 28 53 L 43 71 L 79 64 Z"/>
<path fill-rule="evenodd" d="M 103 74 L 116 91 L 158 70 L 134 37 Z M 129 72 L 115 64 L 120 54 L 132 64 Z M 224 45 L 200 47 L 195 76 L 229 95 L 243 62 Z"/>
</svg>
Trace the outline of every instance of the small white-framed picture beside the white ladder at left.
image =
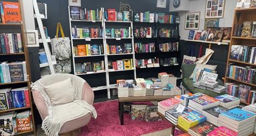
<svg viewBox="0 0 256 136">
<path fill-rule="evenodd" d="M 39 47 L 38 30 L 26 30 L 25 36 L 28 47 Z"/>
</svg>

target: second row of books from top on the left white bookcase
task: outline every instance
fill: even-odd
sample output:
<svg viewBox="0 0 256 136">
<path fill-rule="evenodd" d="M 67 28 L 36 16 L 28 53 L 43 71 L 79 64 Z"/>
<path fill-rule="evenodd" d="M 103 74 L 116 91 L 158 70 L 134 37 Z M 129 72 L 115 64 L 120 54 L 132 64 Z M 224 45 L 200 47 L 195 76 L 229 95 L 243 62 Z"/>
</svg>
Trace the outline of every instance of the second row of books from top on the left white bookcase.
<svg viewBox="0 0 256 136">
<path fill-rule="evenodd" d="M 103 37 L 103 29 L 102 28 L 88 28 L 82 27 L 77 28 L 75 25 L 71 28 L 72 37 L 74 39 L 83 39 L 83 38 L 100 38 Z"/>
</svg>

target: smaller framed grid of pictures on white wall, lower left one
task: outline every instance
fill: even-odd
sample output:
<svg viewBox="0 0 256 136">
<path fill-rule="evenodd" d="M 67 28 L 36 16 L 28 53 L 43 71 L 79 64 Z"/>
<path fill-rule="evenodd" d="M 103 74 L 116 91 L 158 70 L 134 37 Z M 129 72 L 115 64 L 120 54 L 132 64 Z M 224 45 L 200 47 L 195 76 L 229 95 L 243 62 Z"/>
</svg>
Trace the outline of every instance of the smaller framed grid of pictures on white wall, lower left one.
<svg viewBox="0 0 256 136">
<path fill-rule="evenodd" d="M 200 12 L 186 13 L 185 29 L 199 29 Z"/>
</svg>

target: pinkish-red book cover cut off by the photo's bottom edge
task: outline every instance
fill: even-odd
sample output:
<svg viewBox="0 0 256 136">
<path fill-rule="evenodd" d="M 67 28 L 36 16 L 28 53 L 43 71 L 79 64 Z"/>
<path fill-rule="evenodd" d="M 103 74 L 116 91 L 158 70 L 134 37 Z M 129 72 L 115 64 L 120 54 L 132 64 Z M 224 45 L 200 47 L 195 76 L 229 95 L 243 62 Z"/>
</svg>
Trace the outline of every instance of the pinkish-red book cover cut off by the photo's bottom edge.
<svg viewBox="0 0 256 136">
<path fill-rule="evenodd" d="M 238 133 L 234 132 L 233 130 L 226 128 L 224 126 L 218 127 L 214 130 L 212 130 L 212 132 L 210 132 L 209 134 L 207 134 L 207 136 L 223 136 L 223 135 L 227 135 L 227 136 L 237 136 Z"/>
</svg>

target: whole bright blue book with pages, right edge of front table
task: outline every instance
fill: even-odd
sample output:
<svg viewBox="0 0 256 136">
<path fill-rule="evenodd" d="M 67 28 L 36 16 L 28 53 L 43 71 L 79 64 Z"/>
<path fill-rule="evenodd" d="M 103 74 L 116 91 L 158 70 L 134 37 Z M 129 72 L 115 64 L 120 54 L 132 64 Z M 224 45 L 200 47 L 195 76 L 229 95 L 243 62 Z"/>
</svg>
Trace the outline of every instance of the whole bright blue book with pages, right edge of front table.
<svg viewBox="0 0 256 136">
<path fill-rule="evenodd" d="M 220 114 L 220 119 L 226 119 L 228 122 L 234 123 L 236 125 L 241 125 L 241 123 L 247 123 L 250 121 L 255 121 L 256 115 L 249 111 L 244 111 L 240 108 L 233 108 L 230 111 L 226 111 Z"/>
</svg>

